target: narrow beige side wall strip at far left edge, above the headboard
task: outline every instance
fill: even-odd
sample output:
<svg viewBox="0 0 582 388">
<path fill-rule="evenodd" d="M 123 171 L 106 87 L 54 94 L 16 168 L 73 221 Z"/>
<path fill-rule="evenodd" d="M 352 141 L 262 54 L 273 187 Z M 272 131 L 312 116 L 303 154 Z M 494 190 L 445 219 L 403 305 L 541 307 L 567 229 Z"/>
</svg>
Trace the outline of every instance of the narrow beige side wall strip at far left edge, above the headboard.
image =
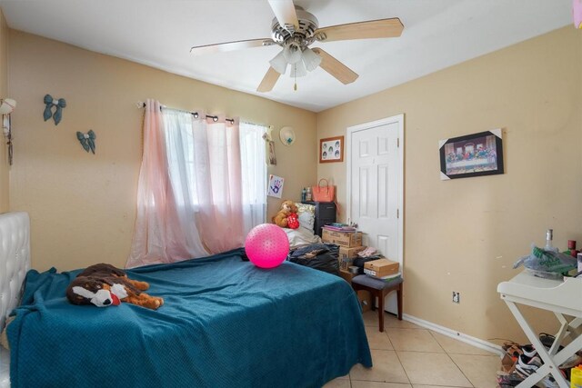
<svg viewBox="0 0 582 388">
<path fill-rule="evenodd" d="M 0 98 L 8 97 L 8 25 L 4 14 L 0 9 Z M 0 126 L 2 117 L 0 116 Z M 5 145 L 5 137 L 0 130 L 0 213 L 8 211 L 8 174 L 10 171 L 8 164 L 8 148 Z"/>
</svg>

